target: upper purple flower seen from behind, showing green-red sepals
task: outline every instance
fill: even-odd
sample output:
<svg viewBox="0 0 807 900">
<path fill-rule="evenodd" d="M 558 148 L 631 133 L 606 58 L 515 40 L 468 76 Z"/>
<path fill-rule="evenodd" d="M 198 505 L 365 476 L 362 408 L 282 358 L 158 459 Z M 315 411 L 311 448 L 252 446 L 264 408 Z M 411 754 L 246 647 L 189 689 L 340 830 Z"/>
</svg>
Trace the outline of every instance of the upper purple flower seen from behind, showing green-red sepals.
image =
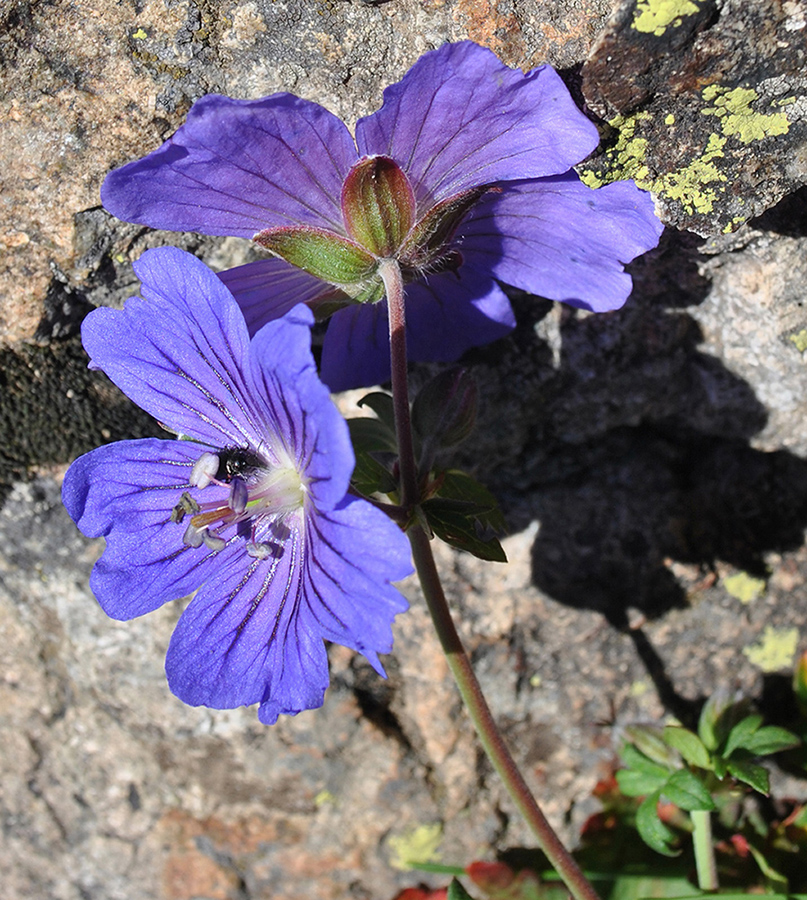
<svg viewBox="0 0 807 900">
<path fill-rule="evenodd" d="M 389 373 L 383 256 L 408 282 L 417 360 L 453 360 L 510 331 L 495 279 L 585 309 L 621 306 L 623 263 L 656 245 L 661 224 L 633 183 L 594 191 L 571 171 L 597 143 L 551 68 L 524 74 L 464 42 L 421 57 L 355 141 L 291 94 L 204 97 L 101 196 L 128 221 L 253 238 L 275 253 L 221 277 L 251 332 L 300 301 L 323 317 L 337 310 L 322 376 L 340 390 Z"/>
</svg>

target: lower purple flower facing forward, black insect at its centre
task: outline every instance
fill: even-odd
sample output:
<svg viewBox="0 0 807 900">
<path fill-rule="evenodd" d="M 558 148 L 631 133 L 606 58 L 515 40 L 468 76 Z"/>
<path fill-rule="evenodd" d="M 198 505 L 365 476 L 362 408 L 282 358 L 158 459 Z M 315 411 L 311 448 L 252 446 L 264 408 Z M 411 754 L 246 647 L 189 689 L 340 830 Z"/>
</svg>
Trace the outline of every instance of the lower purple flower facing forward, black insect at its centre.
<svg viewBox="0 0 807 900">
<path fill-rule="evenodd" d="M 408 541 L 348 491 L 347 425 L 319 381 L 310 310 L 250 337 L 230 292 L 173 248 L 135 263 L 143 298 L 85 320 L 84 346 L 182 440 L 122 441 L 76 460 L 62 498 L 106 549 L 90 585 L 130 619 L 198 588 L 166 658 L 171 690 L 262 722 L 322 704 L 324 641 L 381 674 L 406 602 Z"/>
</svg>

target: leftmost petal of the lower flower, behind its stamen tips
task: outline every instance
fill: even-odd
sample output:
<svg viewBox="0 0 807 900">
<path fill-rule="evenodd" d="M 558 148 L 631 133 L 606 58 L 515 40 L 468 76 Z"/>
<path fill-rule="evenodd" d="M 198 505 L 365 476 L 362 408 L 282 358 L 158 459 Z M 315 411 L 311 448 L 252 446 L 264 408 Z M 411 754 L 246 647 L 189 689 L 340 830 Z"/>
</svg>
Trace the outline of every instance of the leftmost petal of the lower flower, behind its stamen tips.
<svg viewBox="0 0 807 900">
<path fill-rule="evenodd" d="M 67 471 L 62 500 L 87 537 L 105 537 L 90 587 L 104 612 L 132 619 L 195 590 L 226 564 L 219 553 L 183 543 L 185 527 L 171 510 L 188 490 L 204 448 L 190 441 L 121 441 L 77 459 Z M 215 488 L 208 488 L 210 499 Z"/>
</svg>

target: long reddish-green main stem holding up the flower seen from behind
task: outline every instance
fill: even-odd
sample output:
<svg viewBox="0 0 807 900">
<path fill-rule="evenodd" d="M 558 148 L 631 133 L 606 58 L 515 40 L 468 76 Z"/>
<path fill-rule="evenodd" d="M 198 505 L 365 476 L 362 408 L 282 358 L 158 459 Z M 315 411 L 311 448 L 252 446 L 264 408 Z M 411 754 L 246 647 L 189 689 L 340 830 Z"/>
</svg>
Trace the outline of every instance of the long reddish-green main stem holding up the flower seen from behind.
<svg viewBox="0 0 807 900">
<path fill-rule="evenodd" d="M 413 511 L 420 496 L 409 412 L 403 280 L 395 260 L 382 260 L 379 265 L 379 274 L 384 281 L 389 309 L 392 399 L 399 448 L 401 506 L 407 511 Z M 429 606 L 434 627 L 488 759 L 504 782 L 519 812 L 532 829 L 538 845 L 563 879 L 575 900 L 599 900 L 594 888 L 583 875 L 569 851 L 563 846 L 532 796 L 524 776 L 519 771 L 493 719 L 490 707 L 471 668 L 471 661 L 468 659 L 457 629 L 454 627 L 428 535 L 419 524 L 412 525 L 407 534 L 412 545 L 415 569 Z"/>
</svg>

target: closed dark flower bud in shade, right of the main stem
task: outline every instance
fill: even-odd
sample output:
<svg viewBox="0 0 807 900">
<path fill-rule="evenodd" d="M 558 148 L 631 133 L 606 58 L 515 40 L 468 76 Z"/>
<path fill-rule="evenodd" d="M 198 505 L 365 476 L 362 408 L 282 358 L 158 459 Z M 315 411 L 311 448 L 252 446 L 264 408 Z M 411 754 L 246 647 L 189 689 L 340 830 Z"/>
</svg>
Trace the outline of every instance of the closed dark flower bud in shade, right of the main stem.
<svg viewBox="0 0 807 900">
<path fill-rule="evenodd" d="M 441 372 L 427 382 L 412 404 L 412 424 L 433 446 L 459 444 L 476 423 L 478 390 L 466 369 Z"/>
</svg>

